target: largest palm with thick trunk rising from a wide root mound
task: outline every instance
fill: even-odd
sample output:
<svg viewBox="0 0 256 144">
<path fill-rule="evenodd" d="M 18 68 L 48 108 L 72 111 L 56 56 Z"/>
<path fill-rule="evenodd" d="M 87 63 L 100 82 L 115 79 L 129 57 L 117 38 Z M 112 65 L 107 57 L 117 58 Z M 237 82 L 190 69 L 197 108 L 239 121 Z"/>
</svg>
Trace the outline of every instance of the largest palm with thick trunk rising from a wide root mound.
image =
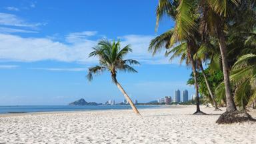
<svg viewBox="0 0 256 144">
<path fill-rule="evenodd" d="M 227 31 L 229 31 L 229 23 L 233 23 L 237 20 L 237 17 L 241 17 L 241 13 L 244 13 L 245 7 L 249 6 L 249 9 L 255 9 L 255 1 L 251 0 L 209 0 L 204 1 L 203 5 L 200 5 L 202 15 L 201 28 L 209 33 L 213 37 L 217 37 L 219 40 L 219 49 L 221 51 L 222 69 L 225 85 L 225 96 L 227 108 L 226 112 L 219 117 L 217 123 L 234 123 L 247 121 L 249 114 L 245 113 L 241 115 L 237 111 L 235 101 L 233 99 L 233 92 L 231 89 L 231 81 L 229 78 L 229 63 L 227 59 Z"/>
</svg>

